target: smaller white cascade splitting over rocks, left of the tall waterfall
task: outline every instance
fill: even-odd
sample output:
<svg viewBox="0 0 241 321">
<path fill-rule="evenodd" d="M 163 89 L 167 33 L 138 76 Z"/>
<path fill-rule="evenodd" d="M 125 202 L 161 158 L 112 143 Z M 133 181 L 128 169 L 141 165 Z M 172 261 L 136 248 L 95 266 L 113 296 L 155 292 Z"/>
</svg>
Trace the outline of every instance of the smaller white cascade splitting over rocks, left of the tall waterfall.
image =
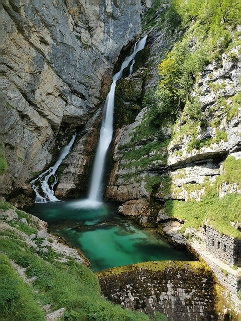
<svg viewBox="0 0 241 321">
<path fill-rule="evenodd" d="M 58 170 L 59 166 L 61 165 L 64 157 L 70 152 L 71 147 L 74 143 L 77 133 L 75 132 L 70 139 L 70 142 L 67 146 L 63 147 L 57 162 L 54 166 L 51 166 L 47 171 L 42 173 L 37 179 L 30 182 L 32 185 L 33 190 L 36 194 L 35 203 L 46 203 L 46 202 L 56 202 L 60 201 L 54 196 L 54 186 L 58 182 L 58 177 L 56 175 L 56 171 Z M 53 178 L 53 183 L 49 183 L 49 179 Z M 39 188 L 42 189 L 44 193 L 44 197 L 40 195 Z"/>
</svg>

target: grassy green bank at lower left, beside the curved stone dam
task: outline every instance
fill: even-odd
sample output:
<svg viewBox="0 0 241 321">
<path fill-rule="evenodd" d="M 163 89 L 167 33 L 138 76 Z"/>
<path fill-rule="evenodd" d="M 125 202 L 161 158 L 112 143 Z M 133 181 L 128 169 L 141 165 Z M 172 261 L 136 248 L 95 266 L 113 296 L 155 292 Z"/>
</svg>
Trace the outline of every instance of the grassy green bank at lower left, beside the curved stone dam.
<svg viewBox="0 0 241 321">
<path fill-rule="evenodd" d="M 7 202 L 2 203 L 3 208 L 10 207 Z M 15 228 L 20 230 L 17 225 Z M 2 231 L 1 234 L 6 236 L 0 238 L 0 248 L 5 258 L 1 273 L 5 280 L 1 291 L 1 301 L 4 305 L 3 320 L 44 320 L 44 312 L 36 303 L 37 301 L 41 304 L 50 303 L 52 310 L 66 307 L 63 320 L 145 321 L 150 319 L 144 313 L 123 309 L 119 305 L 106 301 L 101 296 L 96 275 L 75 260 L 70 259 L 68 262 L 61 263 L 56 261 L 59 255 L 51 248 L 48 248 L 47 253 L 41 253 L 34 248 L 29 248 L 12 230 Z M 11 266 L 8 266 L 6 255 L 26 268 L 27 277 L 37 276 L 33 282 L 33 289 L 16 276 Z M 18 281 L 15 282 L 16 278 Z"/>
</svg>

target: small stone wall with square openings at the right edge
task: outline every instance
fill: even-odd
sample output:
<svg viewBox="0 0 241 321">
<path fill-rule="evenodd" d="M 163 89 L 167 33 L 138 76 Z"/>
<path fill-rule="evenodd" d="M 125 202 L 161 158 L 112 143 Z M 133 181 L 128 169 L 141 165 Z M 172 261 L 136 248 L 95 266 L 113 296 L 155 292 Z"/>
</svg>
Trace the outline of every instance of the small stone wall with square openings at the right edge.
<svg viewBox="0 0 241 321">
<path fill-rule="evenodd" d="M 221 235 L 210 226 L 206 226 L 206 247 L 220 260 L 241 266 L 241 239 Z"/>
</svg>

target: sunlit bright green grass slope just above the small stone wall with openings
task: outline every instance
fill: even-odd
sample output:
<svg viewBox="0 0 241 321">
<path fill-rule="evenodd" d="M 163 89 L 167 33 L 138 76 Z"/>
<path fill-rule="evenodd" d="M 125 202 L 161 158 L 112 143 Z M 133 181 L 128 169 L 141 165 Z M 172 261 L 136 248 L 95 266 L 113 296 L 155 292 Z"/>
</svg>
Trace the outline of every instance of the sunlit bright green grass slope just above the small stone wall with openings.
<svg viewBox="0 0 241 321">
<path fill-rule="evenodd" d="M 182 178 L 184 174 L 179 173 L 175 179 Z M 168 175 L 146 176 L 145 188 L 150 193 L 158 193 L 159 198 L 165 199 L 169 194 L 178 195 L 182 189 L 188 194 L 188 201 L 168 200 L 165 202 L 164 211 L 170 217 L 184 220 L 181 232 L 187 227 L 199 229 L 206 219 L 208 224 L 221 234 L 240 238 L 237 229 L 230 222 L 241 221 L 241 196 L 233 193 L 219 198 L 219 190 L 223 183 L 237 184 L 241 188 L 241 159 L 227 156 L 222 165 L 222 174 L 213 183 L 206 178 L 202 184 L 184 184 L 182 188 L 172 184 Z M 190 194 L 195 191 L 204 190 L 200 201 L 190 199 Z"/>
</svg>

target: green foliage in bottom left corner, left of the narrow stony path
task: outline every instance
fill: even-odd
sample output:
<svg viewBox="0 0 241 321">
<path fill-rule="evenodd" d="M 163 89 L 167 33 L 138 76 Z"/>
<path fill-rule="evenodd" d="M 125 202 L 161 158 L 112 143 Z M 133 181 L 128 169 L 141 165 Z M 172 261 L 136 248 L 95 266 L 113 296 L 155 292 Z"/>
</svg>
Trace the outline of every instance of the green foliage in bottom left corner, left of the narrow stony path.
<svg viewBox="0 0 241 321">
<path fill-rule="evenodd" d="M 6 321 L 44 321 L 44 311 L 35 300 L 34 293 L 15 272 L 6 255 L 0 255 L 1 319 Z"/>
</svg>

